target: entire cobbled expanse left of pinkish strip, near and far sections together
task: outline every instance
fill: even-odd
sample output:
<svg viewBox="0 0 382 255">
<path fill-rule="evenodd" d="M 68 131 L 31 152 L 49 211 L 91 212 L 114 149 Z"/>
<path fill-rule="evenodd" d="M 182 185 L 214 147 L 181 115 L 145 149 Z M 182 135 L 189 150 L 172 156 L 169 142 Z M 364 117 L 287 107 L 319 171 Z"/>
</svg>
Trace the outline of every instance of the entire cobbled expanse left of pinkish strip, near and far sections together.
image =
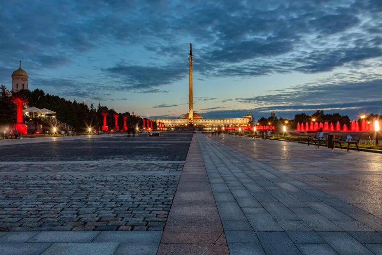
<svg viewBox="0 0 382 255">
<path fill-rule="evenodd" d="M 163 230 L 192 134 L 160 137 L 160 152 L 156 138 L 6 146 L 1 158 L 19 160 L 0 162 L 0 231 Z"/>
</svg>

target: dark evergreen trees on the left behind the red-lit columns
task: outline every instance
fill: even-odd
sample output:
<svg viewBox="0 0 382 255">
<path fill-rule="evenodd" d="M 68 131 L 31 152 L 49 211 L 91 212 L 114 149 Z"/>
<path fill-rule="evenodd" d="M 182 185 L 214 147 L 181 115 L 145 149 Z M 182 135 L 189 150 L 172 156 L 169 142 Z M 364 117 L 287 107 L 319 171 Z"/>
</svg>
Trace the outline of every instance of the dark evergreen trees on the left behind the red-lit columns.
<svg viewBox="0 0 382 255">
<path fill-rule="evenodd" d="M 23 89 L 19 91 L 24 97 L 28 98 L 28 105 L 37 108 L 47 108 L 55 111 L 56 118 L 60 122 L 66 123 L 79 131 L 86 131 L 89 127 L 99 128 L 103 125 L 102 112 L 107 112 L 106 125 L 109 128 L 115 126 L 115 119 L 113 115 L 116 113 L 114 108 L 109 109 L 107 106 L 101 106 L 99 103 L 96 108 L 93 102 L 90 108 L 84 103 L 78 103 L 76 100 L 73 102 L 65 100 L 59 96 L 45 94 L 42 89 L 35 89 L 29 91 Z M 143 121 L 139 116 L 131 115 L 129 112 L 118 113 L 118 126 L 120 129 L 123 127 L 123 116 L 127 117 L 126 126 L 135 128 L 136 124 L 142 127 Z M 7 96 L 7 88 L 4 85 L 0 86 L 0 126 L 8 126 L 14 124 L 16 121 L 16 104 L 11 101 Z M 153 127 L 156 125 L 153 123 Z"/>
</svg>

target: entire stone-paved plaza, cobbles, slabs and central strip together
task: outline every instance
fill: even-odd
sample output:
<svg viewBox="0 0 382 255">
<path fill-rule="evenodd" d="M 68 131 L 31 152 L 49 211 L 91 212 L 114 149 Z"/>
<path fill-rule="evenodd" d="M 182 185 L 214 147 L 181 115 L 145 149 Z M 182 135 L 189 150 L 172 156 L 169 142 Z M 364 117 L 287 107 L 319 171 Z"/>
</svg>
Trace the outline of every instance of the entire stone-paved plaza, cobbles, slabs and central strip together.
<svg viewBox="0 0 382 255">
<path fill-rule="evenodd" d="M 0 254 L 382 254 L 382 155 L 227 134 L 0 142 Z"/>
</svg>

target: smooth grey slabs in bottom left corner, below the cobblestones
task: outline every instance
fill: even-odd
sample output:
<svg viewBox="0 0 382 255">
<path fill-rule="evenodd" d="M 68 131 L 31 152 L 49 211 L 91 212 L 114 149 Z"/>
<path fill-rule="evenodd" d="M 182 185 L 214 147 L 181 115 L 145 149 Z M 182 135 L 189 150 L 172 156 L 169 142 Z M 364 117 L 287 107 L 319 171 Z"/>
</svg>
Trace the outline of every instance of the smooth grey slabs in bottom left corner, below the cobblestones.
<svg viewBox="0 0 382 255">
<path fill-rule="evenodd" d="M 156 254 L 162 231 L 42 231 L 0 233 L 1 255 Z"/>
</svg>

